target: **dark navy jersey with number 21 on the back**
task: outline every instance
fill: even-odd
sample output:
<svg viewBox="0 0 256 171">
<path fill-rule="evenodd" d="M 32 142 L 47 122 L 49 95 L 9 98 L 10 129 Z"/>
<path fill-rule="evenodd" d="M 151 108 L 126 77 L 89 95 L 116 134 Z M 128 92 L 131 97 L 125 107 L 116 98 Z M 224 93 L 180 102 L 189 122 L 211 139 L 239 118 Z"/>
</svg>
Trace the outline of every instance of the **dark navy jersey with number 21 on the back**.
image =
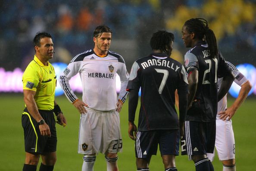
<svg viewBox="0 0 256 171">
<path fill-rule="evenodd" d="M 216 119 L 218 108 L 218 78 L 231 72 L 231 68 L 225 63 L 225 59 L 219 52 L 212 58 L 208 45 L 204 41 L 197 42 L 185 54 L 185 67 L 189 75 L 194 69 L 198 70 L 197 91 L 194 97 L 196 102 L 187 111 L 186 120 L 209 122 Z"/>
</svg>

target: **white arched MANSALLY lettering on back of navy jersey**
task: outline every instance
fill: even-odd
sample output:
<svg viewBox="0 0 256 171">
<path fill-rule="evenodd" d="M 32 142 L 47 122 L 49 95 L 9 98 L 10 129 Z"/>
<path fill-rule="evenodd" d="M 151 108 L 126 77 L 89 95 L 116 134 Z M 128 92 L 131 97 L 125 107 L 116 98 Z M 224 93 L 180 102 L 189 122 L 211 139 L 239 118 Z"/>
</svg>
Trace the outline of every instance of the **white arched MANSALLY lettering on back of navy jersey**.
<svg viewBox="0 0 256 171">
<path fill-rule="evenodd" d="M 168 68 L 171 68 L 175 71 L 177 71 L 180 67 L 176 65 L 176 69 L 174 68 L 174 63 L 171 63 L 170 64 L 170 61 L 166 61 L 166 60 L 156 60 L 156 59 L 150 59 L 150 60 L 147 60 L 146 62 L 144 63 L 141 63 L 141 66 L 143 67 L 143 69 L 149 67 L 149 66 L 165 66 L 165 67 L 168 67 Z"/>
</svg>

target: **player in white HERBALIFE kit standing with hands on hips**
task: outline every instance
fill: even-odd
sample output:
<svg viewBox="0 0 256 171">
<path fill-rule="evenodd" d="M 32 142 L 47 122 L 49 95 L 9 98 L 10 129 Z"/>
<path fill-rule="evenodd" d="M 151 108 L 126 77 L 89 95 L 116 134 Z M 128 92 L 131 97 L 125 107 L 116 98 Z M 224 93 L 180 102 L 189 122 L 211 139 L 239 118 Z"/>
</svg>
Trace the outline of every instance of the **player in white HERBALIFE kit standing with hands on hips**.
<svg viewBox="0 0 256 171">
<path fill-rule="evenodd" d="M 107 171 L 118 171 L 117 152 L 122 150 L 119 111 L 127 97 L 129 75 L 122 56 L 109 51 L 109 27 L 96 27 L 93 40 L 94 49 L 76 55 L 59 77 L 59 83 L 81 114 L 78 153 L 84 154 L 82 171 L 93 171 L 97 153 L 105 154 Z M 69 85 L 70 78 L 77 73 L 82 82 L 82 100 Z M 116 74 L 121 81 L 118 97 Z"/>
</svg>

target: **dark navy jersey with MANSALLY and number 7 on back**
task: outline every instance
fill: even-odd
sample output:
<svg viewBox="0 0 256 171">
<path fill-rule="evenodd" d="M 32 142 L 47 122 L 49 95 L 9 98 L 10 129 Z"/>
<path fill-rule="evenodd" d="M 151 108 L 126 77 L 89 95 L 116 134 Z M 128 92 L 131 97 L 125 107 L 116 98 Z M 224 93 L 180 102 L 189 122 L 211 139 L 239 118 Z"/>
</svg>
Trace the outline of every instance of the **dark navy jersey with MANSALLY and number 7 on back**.
<svg viewBox="0 0 256 171">
<path fill-rule="evenodd" d="M 141 88 L 139 131 L 178 129 L 175 90 L 188 93 L 184 66 L 166 54 L 153 53 L 136 60 L 131 69 L 127 90 Z M 134 120 L 130 118 L 129 120 Z"/>
</svg>

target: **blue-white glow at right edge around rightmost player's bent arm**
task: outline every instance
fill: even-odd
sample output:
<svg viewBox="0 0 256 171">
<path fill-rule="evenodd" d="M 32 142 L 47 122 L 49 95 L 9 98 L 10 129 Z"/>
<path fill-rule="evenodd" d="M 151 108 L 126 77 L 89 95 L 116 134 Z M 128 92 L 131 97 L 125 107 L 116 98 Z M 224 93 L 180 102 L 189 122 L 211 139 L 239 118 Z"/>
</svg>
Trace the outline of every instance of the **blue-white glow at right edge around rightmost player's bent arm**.
<svg viewBox="0 0 256 171">
<path fill-rule="evenodd" d="M 256 94 L 256 68 L 249 63 L 243 63 L 237 65 L 236 67 L 250 81 L 253 86 L 248 96 L 253 92 Z M 231 94 L 231 96 L 237 98 L 240 89 L 241 87 L 233 82 L 228 92 Z"/>
</svg>

